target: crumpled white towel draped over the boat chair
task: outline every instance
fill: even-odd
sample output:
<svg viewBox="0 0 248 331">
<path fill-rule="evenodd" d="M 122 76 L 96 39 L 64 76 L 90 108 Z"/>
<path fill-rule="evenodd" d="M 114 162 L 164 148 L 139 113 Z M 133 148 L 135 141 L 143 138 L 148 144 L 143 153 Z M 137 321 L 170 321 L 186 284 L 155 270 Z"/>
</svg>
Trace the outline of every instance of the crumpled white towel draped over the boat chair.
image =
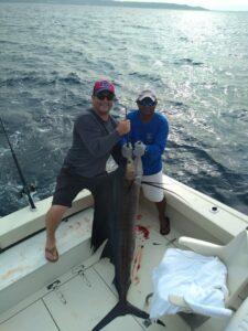
<svg viewBox="0 0 248 331">
<path fill-rule="evenodd" d="M 150 318 L 182 311 L 168 300 L 169 295 L 184 298 L 193 311 L 209 317 L 229 317 L 233 311 L 225 308 L 228 295 L 227 268 L 218 257 L 169 248 L 153 270 L 153 297 Z"/>
</svg>

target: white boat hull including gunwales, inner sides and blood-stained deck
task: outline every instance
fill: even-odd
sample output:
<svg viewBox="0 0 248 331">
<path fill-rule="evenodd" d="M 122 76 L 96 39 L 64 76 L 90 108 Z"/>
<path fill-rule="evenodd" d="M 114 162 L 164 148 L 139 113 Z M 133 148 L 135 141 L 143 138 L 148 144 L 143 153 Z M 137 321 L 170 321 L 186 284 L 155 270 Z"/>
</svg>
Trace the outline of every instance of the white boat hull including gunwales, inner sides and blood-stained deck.
<svg viewBox="0 0 248 331">
<path fill-rule="evenodd" d="M 151 275 L 165 249 L 177 246 L 181 235 L 216 244 L 227 244 L 248 225 L 248 216 L 164 175 L 166 214 L 171 218 L 169 236 L 159 234 L 154 206 L 141 197 L 138 225 L 149 228 L 149 239 L 137 231 L 136 256 L 139 270 L 133 269 L 128 300 L 142 310 L 145 297 L 152 291 Z M 51 199 L 37 203 L 37 211 L 29 207 L 1 218 L 0 248 L 21 241 L 44 228 L 44 216 Z M 63 222 L 57 232 L 60 260 L 48 264 L 44 258 L 45 233 L 14 245 L 0 255 L 0 330 L 91 330 L 117 302 L 111 284 L 114 267 L 107 259 L 91 256 L 89 242 L 93 220 L 93 200 L 87 191 L 79 194 L 68 214 L 82 212 Z M 217 209 L 217 211 L 216 211 Z M 142 248 L 141 248 L 142 247 Z M 82 269 L 84 265 L 84 270 Z M 57 281 L 58 288 L 47 288 Z M 246 298 L 247 290 L 236 300 L 236 308 Z M 206 320 L 196 316 L 166 316 L 166 330 L 222 331 L 228 319 Z M 105 330 L 164 330 L 142 320 L 126 316 L 112 321 Z M 248 330 L 244 329 L 244 330 Z"/>
</svg>

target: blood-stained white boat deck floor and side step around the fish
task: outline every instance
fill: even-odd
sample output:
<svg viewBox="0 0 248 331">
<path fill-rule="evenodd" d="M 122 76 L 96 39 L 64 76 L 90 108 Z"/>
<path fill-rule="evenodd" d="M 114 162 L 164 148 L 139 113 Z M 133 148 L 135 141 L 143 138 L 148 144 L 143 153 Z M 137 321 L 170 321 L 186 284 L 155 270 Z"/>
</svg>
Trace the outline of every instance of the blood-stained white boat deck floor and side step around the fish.
<svg viewBox="0 0 248 331">
<path fill-rule="evenodd" d="M 93 209 L 89 207 L 61 224 L 57 231 L 61 257 L 56 264 L 44 258 L 44 232 L 1 254 L 0 261 L 4 268 L 1 268 L 0 281 L 1 287 L 6 287 L 6 296 L 1 288 L 1 331 L 90 331 L 117 303 L 118 296 L 112 285 L 114 266 L 107 258 L 99 260 L 97 254 L 90 255 L 91 220 Z M 150 209 L 138 213 L 129 302 L 149 312 L 145 298 L 152 292 L 152 270 L 166 248 L 177 245 L 180 233 L 174 228 L 170 235 L 161 236 L 158 218 Z M 14 266 L 10 265 L 13 260 Z M 19 286 L 14 287 L 15 282 Z M 13 306 L 11 296 L 14 296 L 15 302 L 20 298 L 20 302 Z M 9 300 L 10 307 L 4 300 Z M 165 329 L 159 324 L 147 327 L 143 320 L 125 316 L 103 330 L 190 331 L 197 330 L 206 318 L 198 320 L 176 314 L 161 320 Z"/>
</svg>

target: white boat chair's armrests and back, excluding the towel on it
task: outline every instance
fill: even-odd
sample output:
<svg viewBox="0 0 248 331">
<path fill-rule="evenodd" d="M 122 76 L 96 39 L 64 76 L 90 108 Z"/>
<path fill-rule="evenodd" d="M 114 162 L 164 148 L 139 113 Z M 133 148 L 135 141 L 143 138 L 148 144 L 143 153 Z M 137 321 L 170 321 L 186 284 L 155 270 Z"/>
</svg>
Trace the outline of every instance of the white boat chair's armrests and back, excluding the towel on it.
<svg viewBox="0 0 248 331">
<path fill-rule="evenodd" d="M 227 245 L 216 245 L 191 237 L 180 237 L 180 245 L 204 256 L 217 256 L 227 267 L 228 296 L 225 299 L 225 307 L 231 308 L 235 299 L 248 282 L 248 236 L 247 231 L 240 232 Z M 192 311 L 184 298 L 169 295 L 171 303 Z"/>
</svg>

